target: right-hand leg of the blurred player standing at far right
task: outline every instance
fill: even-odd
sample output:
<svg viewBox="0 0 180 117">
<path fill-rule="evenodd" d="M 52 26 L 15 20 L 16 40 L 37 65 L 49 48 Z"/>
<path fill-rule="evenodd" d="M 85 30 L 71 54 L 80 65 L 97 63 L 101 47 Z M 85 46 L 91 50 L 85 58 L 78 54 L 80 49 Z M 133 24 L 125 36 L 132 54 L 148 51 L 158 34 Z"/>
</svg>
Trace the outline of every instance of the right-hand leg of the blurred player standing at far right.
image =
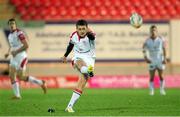
<svg viewBox="0 0 180 117">
<path fill-rule="evenodd" d="M 159 75 L 159 78 L 160 78 L 160 94 L 161 95 L 166 95 L 166 92 L 165 92 L 165 81 L 164 81 L 164 74 L 163 74 L 163 70 L 162 69 L 158 69 L 158 75 Z"/>
</svg>

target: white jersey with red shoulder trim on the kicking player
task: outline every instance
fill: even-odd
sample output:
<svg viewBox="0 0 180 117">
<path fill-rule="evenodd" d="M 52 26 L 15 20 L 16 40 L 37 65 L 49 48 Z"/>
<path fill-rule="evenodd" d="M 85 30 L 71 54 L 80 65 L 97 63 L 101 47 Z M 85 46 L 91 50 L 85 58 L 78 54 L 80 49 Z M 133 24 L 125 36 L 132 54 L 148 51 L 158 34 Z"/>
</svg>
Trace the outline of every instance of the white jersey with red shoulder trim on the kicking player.
<svg viewBox="0 0 180 117">
<path fill-rule="evenodd" d="M 86 55 L 95 57 L 95 42 L 87 36 L 81 38 L 77 31 L 70 36 L 70 43 L 74 44 L 74 56 Z"/>
</svg>

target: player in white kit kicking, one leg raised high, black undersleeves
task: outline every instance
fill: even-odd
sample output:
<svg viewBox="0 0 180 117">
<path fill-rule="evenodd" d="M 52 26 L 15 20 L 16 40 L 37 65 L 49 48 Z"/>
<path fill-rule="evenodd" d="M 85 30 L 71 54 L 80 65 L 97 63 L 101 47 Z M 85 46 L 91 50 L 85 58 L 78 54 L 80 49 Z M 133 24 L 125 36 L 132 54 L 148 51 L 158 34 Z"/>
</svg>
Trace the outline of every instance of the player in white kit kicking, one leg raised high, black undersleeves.
<svg viewBox="0 0 180 117">
<path fill-rule="evenodd" d="M 67 112 L 74 112 L 73 106 L 80 98 L 82 91 L 91 77 L 94 76 L 93 69 L 95 63 L 95 35 L 88 28 L 85 20 L 78 20 L 76 23 L 76 31 L 70 36 L 70 42 L 66 53 L 62 57 L 62 61 L 67 61 L 67 56 L 74 50 L 72 58 L 73 67 L 81 74 L 77 87 L 75 88 L 71 100 L 65 109 Z"/>
</svg>

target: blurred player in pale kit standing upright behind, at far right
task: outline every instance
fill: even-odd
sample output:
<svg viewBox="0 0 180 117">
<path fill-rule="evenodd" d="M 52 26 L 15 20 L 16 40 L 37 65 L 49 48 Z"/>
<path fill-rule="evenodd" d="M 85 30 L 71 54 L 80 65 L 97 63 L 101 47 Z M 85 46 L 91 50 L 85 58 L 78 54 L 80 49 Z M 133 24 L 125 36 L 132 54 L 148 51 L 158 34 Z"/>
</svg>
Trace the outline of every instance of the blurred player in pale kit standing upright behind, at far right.
<svg viewBox="0 0 180 117">
<path fill-rule="evenodd" d="M 147 55 L 147 52 L 149 53 Z M 158 35 L 157 26 L 152 25 L 150 27 L 150 37 L 146 39 L 143 44 L 143 54 L 145 61 L 149 64 L 149 88 L 150 95 L 154 95 L 154 76 L 155 71 L 158 71 L 160 78 L 160 94 L 166 95 L 164 90 L 165 82 L 163 71 L 166 64 L 166 43 L 165 39 Z"/>
</svg>

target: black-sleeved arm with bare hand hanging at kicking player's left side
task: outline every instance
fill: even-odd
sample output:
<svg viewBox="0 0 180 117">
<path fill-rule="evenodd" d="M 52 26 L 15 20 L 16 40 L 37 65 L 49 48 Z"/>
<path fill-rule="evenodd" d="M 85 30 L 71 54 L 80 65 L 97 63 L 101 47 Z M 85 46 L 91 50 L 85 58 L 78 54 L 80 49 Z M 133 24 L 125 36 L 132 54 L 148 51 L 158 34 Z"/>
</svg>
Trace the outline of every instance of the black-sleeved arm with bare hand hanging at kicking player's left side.
<svg viewBox="0 0 180 117">
<path fill-rule="evenodd" d="M 65 52 L 64 56 L 61 58 L 63 63 L 67 62 L 67 56 L 72 51 L 73 47 L 74 47 L 74 44 L 72 44 L 71 41 L 70 41 L 68 46 L 67 46 L 67 49 L 66 49 L 66 52 Z"/>
</svg>

